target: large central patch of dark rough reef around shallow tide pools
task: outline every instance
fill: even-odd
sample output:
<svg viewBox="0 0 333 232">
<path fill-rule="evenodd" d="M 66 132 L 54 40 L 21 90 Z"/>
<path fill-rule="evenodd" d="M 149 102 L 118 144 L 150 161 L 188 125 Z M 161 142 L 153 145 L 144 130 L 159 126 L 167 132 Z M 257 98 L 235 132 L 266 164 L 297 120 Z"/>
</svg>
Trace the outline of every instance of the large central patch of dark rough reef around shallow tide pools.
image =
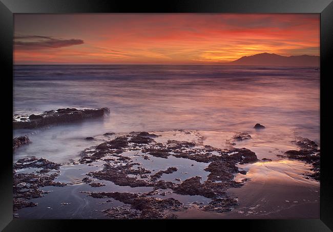
<svg viewBox="0 0 333 232">
<path fill-rule="evenodd" d="M 204 170 L 210 173 L 207 176 L 207 180 L 203 182 L 199 176 L 188 178 L 184 181 L 177 178 L 176 183 L 158 180 L 162 175 L 176 172 L 178 169 L 169 167 L 166 170 L 152 173 L 151 170 L 141 167 L 142 164 L 134 163 L 131 158 L 123 155 L 123 152 L 128 151 L 142 152 L 135 154 L 135 156 L 142 156 L 143 159 L 145 157 L 149 159 L 149 156 L 168 159 L 173 156 L 207 163 L 208 166 Z M 170 218 L 171 216 L 165 214 L 163 210 L 170 209 L 170 207 L 173 209 L 176 200 L 161 200 L 154 197 L 155 195 L 165 196 L 165 192 L 159 193 L 159 189 L 168 189 L 168 191 L 171 190 L 178 195 L 199 195 L 211 198 L 211 203 L 206 205 L 206 207 L 202 206 L 200 208 L 202 210 L 216 212 L 231 210 L 237 202 L 227 196 L 226 190 L 231 187 L 240 187 L 244 184 L 234 180 L 235 174 L 241 172 L 246 175 L 246 171 L 245 173 L 244 171 L 239 171 L 237 164 L 256 162 L 258 160 L 255 152 L 246 148 L 196 147 L 195 142 L 176 140 L 157 143 L 154 139 L 147 137 L 146 133 L 142 132 L 131 132 L 116 137 L 96 147 L 86 149 L 81 155 L 80 163 L 82 164 L 99 160 L 106 162 L 102 170 L 87 173 L 92 178 L 111 181 L 119 186 L 152 187 L 154 189 L 141 195 L 119 192 L 89 192 L 89 196 L 94 198 L 114 198 L 131 205 L 131 208 L 118 206 L 104 210 L 106 216 L 111 218 Z M 87 183 L 92 184 L 91 181 Z M 160 205 L 164 205 L 166 202 L 168 202 L 167 205 L 170 207 L 163 207 L 163 210 L 161 210 Z M 178 205 L 178 201 L 176 203 Z M 149 205 L 149 208 L 141 207 L 141 205 L 146 204 Z M 122 212 L 123 215 L 121 215 Z"/>
</svg>

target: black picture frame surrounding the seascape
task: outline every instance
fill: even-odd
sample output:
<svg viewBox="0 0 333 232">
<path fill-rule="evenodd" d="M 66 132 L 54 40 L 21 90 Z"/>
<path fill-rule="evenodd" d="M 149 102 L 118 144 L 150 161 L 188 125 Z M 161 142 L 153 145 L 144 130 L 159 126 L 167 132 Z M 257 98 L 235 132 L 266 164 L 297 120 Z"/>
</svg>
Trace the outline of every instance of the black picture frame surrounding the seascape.
<svg viewBox="0 0 333 232">
<path fill-rule="evenodd" d="M 333 3 L 332 0 L 169 0 L 156 2 L 141 1 L 105 1 L 105 0 L 0 0 L 0 59 L 3 64 L 2 79 L 6 79 L 6 95 L 2 98 L 8 103 L 8 110 L 4 110 L 8 131 L 12 131 L 12 102 L 9 94 L 12 94 L 13 83 L 9 81 L 13 73 L 13 14 L 15 13 L 320 13 L 320 124 L 321 127 L 321 177 L 320 177 L 320 219 L 285 219 L 285 220 L 215 220 L 220 228 L 231 225 L 237 229 L 256 231 L 330 231 L 333 229 L 333 204 L 332 186 L 333 178 L 330 173 L 329 137 L 323 136 L 329 133 L 331 128 L 329 118 L 329 79 L 333 78 L 331 60 L 333 53 Z M 3 81 L 2 80 L 2 81 Z M 8 85 L 8 86 L 7 86 Z M 8 112 L 8 113 L 6 113 Z M 7 122 L 8 120 L 8 122 Z M 5 132 L 5 131 L 4 131 Z M 24 220 L 13 219 L 12 212 L 12 157 L 10 156 L 10 139 L 5 135 L 6 148 L 2 152 L 1 185 L 0 185 L 0 230 L 4 231 L 58 231 L 66 230 L 69 224 L 75 224 L 81 228 L 93 226 L 95 229 L 100 225 L 108 223 L 115 226 L 110 220 Z M 135 226 L 140 226 L 144 220 L 135 221 Z M 159 228 L 166 222 L 164 220 Z M 244 222 L 245 221 L 245 222 Z M 123 221 L 122 221 L 123 222 Z M 128 225 L 122 223 L 123 225 Z M 185 221 L 187 224 L 189 221 Z M 162 225 L 162 224 L 163 225 Z M 132 223 L 131 223 L 132 224 Z M 191 225 L 203 224 L 200 221 L 191 221 Z M 162 226 L 161 226 L 162 225 Z M 231 228 L 233 228 L 231 227 Z M 114 227 L 115 228 L 115 227 Z M 109 227 L 110 229 L 110 227 Z M 143 227 L 142 227 L 143 229 Z M 77 230 L 79 230 L 77 228 Z"/>
</svg>

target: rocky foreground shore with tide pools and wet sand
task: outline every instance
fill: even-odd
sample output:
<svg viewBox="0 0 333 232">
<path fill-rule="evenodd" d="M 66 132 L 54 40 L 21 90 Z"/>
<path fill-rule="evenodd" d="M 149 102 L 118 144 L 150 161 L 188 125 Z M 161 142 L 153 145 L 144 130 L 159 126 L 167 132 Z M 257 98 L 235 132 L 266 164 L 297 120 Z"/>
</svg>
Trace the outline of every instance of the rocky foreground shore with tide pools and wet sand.
<svg viewBox="0 0 333 232">
<path fill-rule="evenodd" d="M 96 200 L 100 199 L 98 200 L 99 205 L 105 201 L 108 202 L 108 199 L 110 199 L 108 204 L 118 202 L 117 204 L 112 203 L 112 207 L 109 206 L 109 208 L 105 208 L 105 203 L 103 203 L 103 207 L 91 209 L 92 212 L 96 212 L 97 218 L 280 218 L 283 215 L 292 217 L 295 214 L 293 210 L 306 207 L 311 207 L 313 210 L 311 210 L 311 214 L 303 215 L 304 218 L 316 218 L 319 213 L 316 210 L 319 208 L 319 182 L 304 178 L 306 172 L 311 172 L 311 165 L 287 159 L 286 156 L 277 156 L 277 160 L 274 161 L 271 159 L 262 161 L 263 158 L 258 160 L 255 155 L 252 158 L 251 150 L 248 150 L 251 152 L 247 158 L 247 149 L 233 146 L 237 143 L 242 144 L 243 141 L 253 140 L 254 138 L 248 133 L 236 133 L 227 139 L 228 148 L 205 145 L 206 137 L 199 131 L 179 129 L 127 134 L 110 132 L 100 134 L 96 138 L 87 137 L 86 139 L 88 138 L 91 138 L 89 140 L 92 141 L 102 138 L 105 142 L 99 143 L 98 146 L 88 147 L 80 154 L 81 158 L 76 161 L 59 164 L 59 176 L 55 176 L 55 182 L 38 184 L 26 179 L 28 184 L 35 186 L 33 189 L 39 191 L 38 188 L 41 187 L 42 191 L 39 195 L 41 198 L 26 198 L 28 202 L 32 203 L 25 204 L 28 208 L 16 210 L 15 217 L 20 217 L 22 213 L 24 218 L 29 218 L 29 215 L 31 217 L 29 211 L 33 212 L 34 208 L 43 207 L 46 202 L 41 199 L 48 198 L 49 195 L 52 195 L 52 191 L 61 194 L 61 189 L 68 192 L 70 189 L 77 188 L 81 190 L 74 190 L 75 193 L 70 190 L 70 201 L 58 202 L 61 208 L 74 207 L 75 204 L 71 201 L 75 198 L 85 199 L 88 202 L 97 198 Z M 246 152 L 244 153 L 244 151 Z M 232 161 L 235 163 L 230 170 L 225 169 L 227 160 L 229 160 L 228 162 L 235 160 Z M 222 163 L 219 163 L 220 161 Z M 49 165 L 48 161 L 43 162 Z M 155 167 L 152 162 L 160 164 Z M 165 162 L 171 163 L 164 164 Z M 39 173 L 50 171 L 43 165 L 34 166 L 37 163 L 40 163 L 40 160 L 18 161 L 14 169 L 19 173 L 24 173 L 29 169 L 36 171 L 34 170 L 36 167 L 45 170 L 39 170 Z M 216 169 L 210 168 L 214 167 L 213 164 L 217 165 Z M 187 169 L 184 169 L 184 165 L 188 166 Z M 290 170 L 284 169 L 283 165 Z M 295 169 L 295 165 L 299 168 Z M 121 168 L 119 169 L 119 167 Z M 270 171 L 265 174 L 261 173 L 267 168 Z M 74 176 L 66 175 L 66 169 L 72 170 Z M 21 170 L 24 171 L 20 172 Z M 189 173 L 190 170 L 192 171 Z M 223 171 L 221 172 L 221 170 Z M 121 173 L 120 176 L 118 173 Z M 37 176 L 40 175 L 37 174 Z M 292 181 L 281 181 L 285 179 L 285 176 L 289 176 Z M 77 177 L 85 178 L 78 179 Z M 31 180 L 35 176 L 27 178 Z M 276 182 L 279 178 L 281 184 Z M 222 183 L 220 183 L 221 180 Z M 18 190 L 26 188 L 27 183 L 17 183 Z M 225 185 L 225 183 L 228 184 Z M 123 186 L 124 189 L 117 193 L 120 189 L 115 186 Z M 309 189 L 308 186 L 311 186 L 311 194 L 304 193 L 305 189 Z M 141 190 L 134 190 L 136 188 Z M 133 193 L 127 198 L 126 192 Z M 275 195 L 272 195 L 273 192 Z M 292 199 L 295 192 L 301 193 L 297 195 L 297 200 Z M 154 201 L 152 201 L 153 199 Z M 162 207 L 161 205 L 164 205 L 168 199 L 171 199 L 171 202 L 167 203 L 169 206 Z M 38 206 L 37 202 L 44 203 Z M 141 204 L 139 202 L 146 202 L 145 205 L 149 207 L 142 208 L 138 206 Z M 73 203 L 72 206 L 70 206 L 71 203 Z M 56 208 L 55 205 L 45 205 L 44 207 L 46 212 Z M 61 208 L 54 211 L 61 211 Z M 74 214 L 72 217 L 75 218 L 78 215 Z M 57 218 L 56 215 L 55 218 Z"/>
</svg>

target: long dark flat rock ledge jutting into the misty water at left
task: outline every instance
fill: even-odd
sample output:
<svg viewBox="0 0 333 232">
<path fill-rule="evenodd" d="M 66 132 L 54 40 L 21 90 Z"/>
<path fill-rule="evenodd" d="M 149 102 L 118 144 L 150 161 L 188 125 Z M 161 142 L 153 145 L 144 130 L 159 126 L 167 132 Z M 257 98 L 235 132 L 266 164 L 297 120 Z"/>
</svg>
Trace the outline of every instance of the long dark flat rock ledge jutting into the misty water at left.
<svg viewBox="0 0 333 232">
<path fill-rule="evenodd" d="M 13 129 L 31 129 L 43 127 L 53 124 L 63 124 L 78 122 L 85 119 L 92 119 L 102 117 L 104 114 L 109 113 L 109 108 L 100 109 L 57 109 L 45 111 L 41 114 L 31 114 L 29 120 L 13 121 Z"/>
</svg>

